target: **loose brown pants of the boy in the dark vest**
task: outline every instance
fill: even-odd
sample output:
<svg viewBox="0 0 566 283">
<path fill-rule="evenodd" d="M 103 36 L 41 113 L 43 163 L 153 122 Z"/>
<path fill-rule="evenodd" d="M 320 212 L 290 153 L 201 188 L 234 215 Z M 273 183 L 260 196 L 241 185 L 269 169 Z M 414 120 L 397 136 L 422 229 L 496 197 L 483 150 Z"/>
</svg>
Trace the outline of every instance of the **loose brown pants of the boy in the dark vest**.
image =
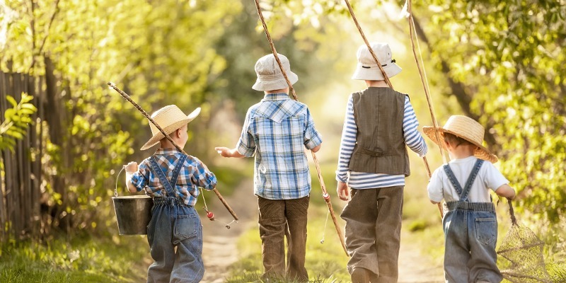
<svg viewBox="0 0 566 283">
<path fill-rule="evenodd" d="M 346 221 L 347 268 L 374 272 L 372 283 L 397 282 L 403 186 L 352 189 L 340 217 Z"/>
</svg>

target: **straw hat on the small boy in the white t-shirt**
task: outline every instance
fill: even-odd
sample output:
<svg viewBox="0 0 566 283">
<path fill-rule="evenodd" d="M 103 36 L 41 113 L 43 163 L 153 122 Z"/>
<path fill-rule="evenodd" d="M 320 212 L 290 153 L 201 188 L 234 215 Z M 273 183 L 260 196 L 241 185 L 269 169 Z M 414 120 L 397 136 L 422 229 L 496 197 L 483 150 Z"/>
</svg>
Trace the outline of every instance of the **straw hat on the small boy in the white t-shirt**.
<svg viewBox="0 0 566 283">
<path fill-rule="evenodd" d="M 454 134 L 457 137 L 461 137 L 462 139 L 466 139 L 466 141 L 470 141 L 475 146 L 478 146 L 478 149 L 476 149 L 474 153 L 475 157 L 485 161 L 490 161 L 491 163 L 497 162 L 497 156 L 492 154 L 489 149 L 486 149 L 485 146 L 482 145 L 485 129 L 482 125 L 480 125 L 480 123 L 476 122 L 472 118 L 459 115 L 450 116 L 448 121 L 446 121 L 446 125 L 444 125 L 444 127 L 437 128 L 437 130 L 442 142 L 437 140 L 436 134 L 434 134 L 434 127 L 422 127 L 424 134 L 443 149 L 446 149 L 446 145 L 444 144 L 444 133 L 447 132 Z"/>
</svg>

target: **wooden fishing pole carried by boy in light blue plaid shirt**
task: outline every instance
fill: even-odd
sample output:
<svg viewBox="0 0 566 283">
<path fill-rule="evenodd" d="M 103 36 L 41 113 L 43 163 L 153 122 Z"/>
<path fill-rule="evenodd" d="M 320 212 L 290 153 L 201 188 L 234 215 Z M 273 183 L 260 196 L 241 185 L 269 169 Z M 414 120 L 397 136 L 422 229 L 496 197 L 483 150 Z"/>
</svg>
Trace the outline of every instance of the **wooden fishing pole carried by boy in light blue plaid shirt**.
<svg viewBox="0 0 566 283">
<path fill-rule="evenodd" d="M 271 35 L 270 35 L 269 30 L 267 30 L 267 25 L 265 24 L 265 18 L 263 18 L 263 14 L 262 14 L 262 11 L 261 11 L 261 8 L 260 8 L 260 3 L 259 3 L 258 0 L 255 0 L 255 8 L 258 10 L 258 15 L 260 16 L 260 20 L 261 20 L 261 23 L 263 25 L 263 30 L 265 31 L 265 35 L 267 36 L 267 40 L 270 42 L 271 52 L 273 53 L 273 56 L 275 57 L 275 61 L 277 61 L 277 64 L 279 65 L 279 69 L 281 69 L 281 74 L 283 74 L 285 81 L 287 81 L 287 85 L 289 85 L 289 91 L 291 92 L 293 99 L 298 101 L 299 99 L 297 99 L 293 85 L 292 85 L 291 81 L 289 81 L 289 78 L 287 77 L 287 73 L 285 72 L 283 64 L 281 64 L 281 61 L 279 61 L 279 56 L 277 55 L 277 50 L 275 50 L 275 45 L 273 44 L 273 40 L 271 39 Z M 318 165 L 318 160 L 316 159 L 316 154 L 313 151 L 311 151 L 311 154 L 313 155 L 313 161 L 314 161 L 314 164 L 316 166 L 316 173 L 318 175 L 318 181 L 320 182 L 320 189 L 322 189 L 322 191 L 323 191 L 323 199 L 326 202 L 326 206 L 328 207 L 328 212 L 330 212 L 330 216 L 332 217 L 332 221 L 334 222 L 334 227 L 336 229 L 336 233 L 338 234 L 338 238 L 340 238 L 340 243 L 342 244 L 342 248 L 344 249 L 344 252 L 346 253 L 346 255 L 348 255 L 348 251 L 346 249 L 346 243 L 344 241 L 344 236 L 342 236 L 342 229 L 338 225 L 338 221 L 336 219 L 336 215 L 335 215 L 334 209 L 332 207 L 332 202 L 330 202 L 330 195 L 328 195 L 328 192 L 326 191 L 326 187 L 324 185 L 324 180 L 323 180 L 323 175 L 322 175 L 322 173 L 320 173 L 320 166 Z M 348 256 L 350 256 L 350 255 L 348 255 Z"/>
</svg>

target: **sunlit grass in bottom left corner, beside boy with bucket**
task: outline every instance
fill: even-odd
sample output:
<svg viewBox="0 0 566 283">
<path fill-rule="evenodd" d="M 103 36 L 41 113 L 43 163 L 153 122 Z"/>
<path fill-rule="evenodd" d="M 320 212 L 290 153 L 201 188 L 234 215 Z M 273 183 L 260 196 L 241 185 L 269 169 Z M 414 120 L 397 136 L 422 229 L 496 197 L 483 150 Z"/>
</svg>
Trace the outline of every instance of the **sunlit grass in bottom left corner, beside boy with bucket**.
<svg viewBox="0 0 566 283">
<path fill-rule="evenodd" d="M 0 282 L 140 282 L 149 253 L 143 237 L 76 237 L 1 247 Z M 125 253 L 127 251 L 127 253 Z"/>
</svg>

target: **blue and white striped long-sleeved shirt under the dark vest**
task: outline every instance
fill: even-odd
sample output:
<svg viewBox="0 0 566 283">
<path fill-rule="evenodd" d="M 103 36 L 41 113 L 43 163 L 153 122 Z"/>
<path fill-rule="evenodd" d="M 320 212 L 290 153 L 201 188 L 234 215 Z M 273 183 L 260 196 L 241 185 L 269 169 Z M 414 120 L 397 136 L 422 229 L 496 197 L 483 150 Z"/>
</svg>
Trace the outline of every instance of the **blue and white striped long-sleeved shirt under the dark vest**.
<svg viewBox="0 0 566 283">
<path fill-rule="evenodd" d="M 424 143 L 422 135 L 417 130 L 419 122 L 408 96 L 405 96 L 405 115 L 403 116 L 403 138 L 405 144 L 419 156 L 427 154 L 427 144 Z M 364 173 L 350 171 L 348 165 L 352 157 L 352 151 L 356 145 L 358 128 L 354 120 L 354 103 L 352 95 L 348 98 L 344 127 L 342 128 L 342 140 L 340 141 L 340 155 L 338 156 L 338 168 L 336 180 L 347 183 L 352 189 L 370 189 L 374 187 L 404 186 L 405 175 L 389 175 L 382 173 Z"/>
</svg>

